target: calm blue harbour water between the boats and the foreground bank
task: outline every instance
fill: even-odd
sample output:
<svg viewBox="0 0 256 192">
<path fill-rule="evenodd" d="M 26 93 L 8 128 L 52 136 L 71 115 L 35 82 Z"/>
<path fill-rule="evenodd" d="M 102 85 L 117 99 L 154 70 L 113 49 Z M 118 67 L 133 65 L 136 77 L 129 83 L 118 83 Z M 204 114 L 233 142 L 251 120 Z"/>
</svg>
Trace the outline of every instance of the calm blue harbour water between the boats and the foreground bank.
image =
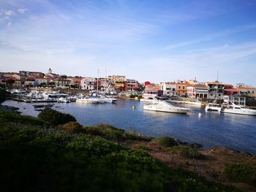
<svg viewBox="0 0 256 192">
<path fill-rule="evenodd" d="M 37 116 L 33 104 L 5 101 L 3 104 L 20 107 L 20 112 Z M 55 104 L 53 109 L 69 113 L 85 126 L 108 123 L 127 131 L 149 136 L 171 136 L 182 142 L 197 142 L 205 148 L 226 146 L 256 153 L 256 117 L 205 112 L 192 109 L 187 115 L 143 111 L 140 101 L 118 100 L 116 104 Z M 132 106 L 136 109 L 132 110 Z M 198 113 L 203 115 L 198 117 Z"/>
</svg>

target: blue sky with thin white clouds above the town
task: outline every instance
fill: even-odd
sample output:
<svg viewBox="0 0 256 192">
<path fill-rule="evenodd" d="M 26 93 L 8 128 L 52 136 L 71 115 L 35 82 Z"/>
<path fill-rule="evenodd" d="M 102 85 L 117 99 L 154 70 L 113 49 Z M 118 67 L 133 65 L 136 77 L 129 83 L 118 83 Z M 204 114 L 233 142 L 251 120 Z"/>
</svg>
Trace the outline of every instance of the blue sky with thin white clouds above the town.
<svg viewBox="0 0 256 192">
<path fill-rule="evenodd" d="M 0 71 L 256 86 L 255 0 L 0 0 Z"/>
</svg>

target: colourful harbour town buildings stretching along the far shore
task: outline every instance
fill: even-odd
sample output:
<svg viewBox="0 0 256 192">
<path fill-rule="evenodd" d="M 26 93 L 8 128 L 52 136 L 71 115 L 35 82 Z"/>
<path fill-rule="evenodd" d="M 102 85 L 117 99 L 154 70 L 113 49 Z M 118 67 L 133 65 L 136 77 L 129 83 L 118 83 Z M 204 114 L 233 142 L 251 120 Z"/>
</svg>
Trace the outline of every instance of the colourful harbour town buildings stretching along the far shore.
<svg viewBox="0 0 256 192">
<path fill-rule="evenodd" d="M 121 75 L 111 75 L 107 78 L 70 77 L 68 75 L 55 74 L 52 69 L 48 69 L 47 73 L 28 71 L 0 72 L 0 86 L 16 89 L 28 88 L 29 90 L 37 88 L 38 91 L 59 89 L 65 92 L 73 90 L 72 93 L 89 93 L 90 91 L 98 90 L 104 91 L 109 95 L 118 93 L 130 93 L 128 96 L 141 95 L 143 99 L 152 99 L 156 96 L 180 96 L 202 100 L 234 100 L 238 97 L 246 97 L 246 99 L 253 100 L 256 98 L 256 88 L 244 85 L 244 83 L 238 83 L 233 86 L 219 81 L 198 82 L 196 79 L 160 82 L 159 84 L 149 81 L 139 83 L 138 80 L 131 80 Z"/>
</svg>

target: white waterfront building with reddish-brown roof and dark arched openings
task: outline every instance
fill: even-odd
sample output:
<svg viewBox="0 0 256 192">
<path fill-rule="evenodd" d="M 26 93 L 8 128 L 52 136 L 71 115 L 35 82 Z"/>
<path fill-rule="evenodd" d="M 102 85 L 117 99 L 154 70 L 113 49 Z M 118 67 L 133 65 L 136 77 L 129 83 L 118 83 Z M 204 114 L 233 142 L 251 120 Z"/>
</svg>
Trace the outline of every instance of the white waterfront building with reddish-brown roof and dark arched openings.
<svg viewBox="0 0 256 192">
<path fill-rule="evenodd" d="M 208 87 L 202 84 L 187 85 L 187 96 L 192 99 L 208 99 Z"/>
</svg>

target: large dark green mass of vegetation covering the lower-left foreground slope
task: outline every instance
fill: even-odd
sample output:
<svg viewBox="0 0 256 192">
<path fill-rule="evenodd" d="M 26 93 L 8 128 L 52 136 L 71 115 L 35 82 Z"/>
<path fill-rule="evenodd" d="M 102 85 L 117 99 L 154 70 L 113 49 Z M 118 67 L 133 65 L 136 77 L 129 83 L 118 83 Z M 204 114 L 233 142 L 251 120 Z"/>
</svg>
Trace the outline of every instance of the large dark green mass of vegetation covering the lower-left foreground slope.
<svg viewBox="0 0 256 192">
<path fill-rule="evenodd" d="M 42 122 L 39 118 L 16 115 L 12 120 L 4 113 L 1 191 L 238 191 L 94 135 L 103 128 L 124 132 L 117 128 L 101 125 L 101 131 L 91 128 L 89 134 L 78 123 L 45 128 L 35 123 Z M 83 129 L 87 132 L 73 132 Z"/>
</svg>

